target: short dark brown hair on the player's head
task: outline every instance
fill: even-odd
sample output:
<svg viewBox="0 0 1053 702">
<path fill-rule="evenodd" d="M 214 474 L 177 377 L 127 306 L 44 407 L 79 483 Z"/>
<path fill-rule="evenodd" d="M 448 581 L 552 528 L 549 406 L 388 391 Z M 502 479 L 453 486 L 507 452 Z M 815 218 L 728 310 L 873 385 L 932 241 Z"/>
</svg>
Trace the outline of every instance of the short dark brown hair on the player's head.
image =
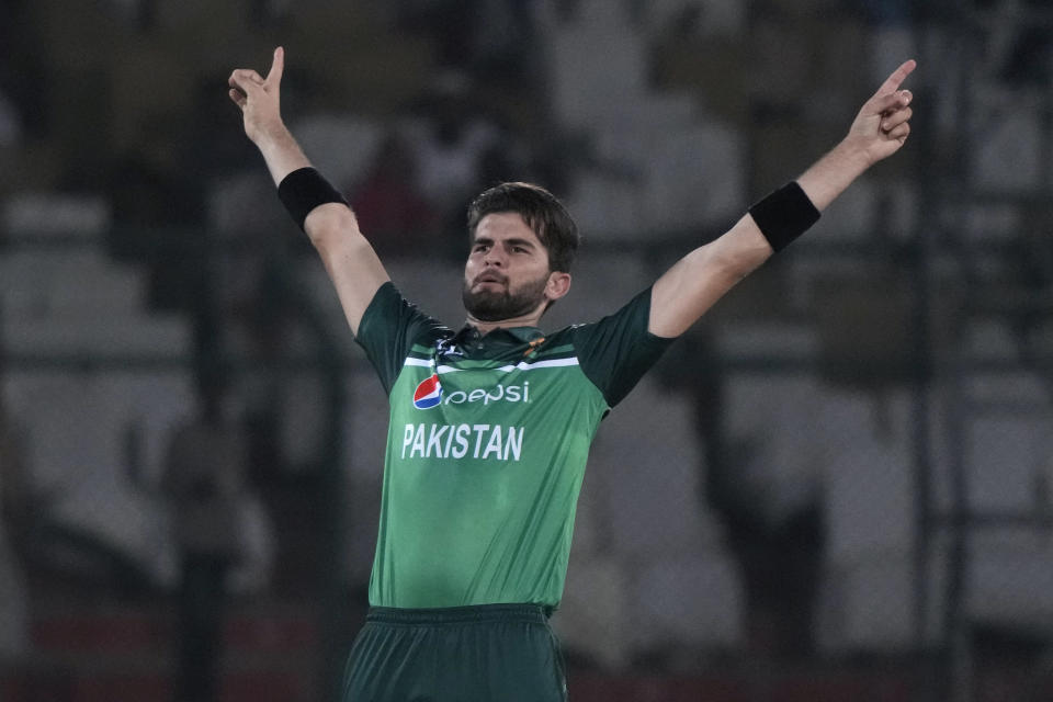
<svg viewBox="0 0 1053 702">
<path fill-rule="evenodd" d="M 486 215 L 519 214 L 548 251 L 548 270 L 569 273 L 578 251 L 578 225 L 556 196 L 533 183 L 501 183 L 484 191 L 468 205 L 468 236 Z"/>
</svg>

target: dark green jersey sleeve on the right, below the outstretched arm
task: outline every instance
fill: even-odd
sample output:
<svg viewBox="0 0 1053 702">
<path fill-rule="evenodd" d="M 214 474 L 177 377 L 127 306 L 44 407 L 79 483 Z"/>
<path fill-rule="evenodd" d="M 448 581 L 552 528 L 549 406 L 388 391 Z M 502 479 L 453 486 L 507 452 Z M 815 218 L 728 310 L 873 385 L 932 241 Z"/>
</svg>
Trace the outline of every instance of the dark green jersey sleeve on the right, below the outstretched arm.
<svg viewBox="0 0 1053 702">
<path fill-rule="evenodd" d="M 581 371 L 611 407 L 629 395 L 675 341 L 647 331 L 649 317 L 648 287 L 613 315 L 573 329 Z"/>
</svg>

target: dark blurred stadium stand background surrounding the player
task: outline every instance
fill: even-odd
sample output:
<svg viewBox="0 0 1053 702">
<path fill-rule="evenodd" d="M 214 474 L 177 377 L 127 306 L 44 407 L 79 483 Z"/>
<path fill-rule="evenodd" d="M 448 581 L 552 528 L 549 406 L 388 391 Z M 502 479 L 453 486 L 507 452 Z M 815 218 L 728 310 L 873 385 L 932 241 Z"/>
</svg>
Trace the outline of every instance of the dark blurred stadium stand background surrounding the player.
<svg viewBox="0 0 1053 702">
<path fill-rule="evenodd" d="M 0 3 L 0 699 L 337 699 L 386 401 L 225 94 L 276 45 L 448 324 L 471 196 L 565 200 L 548 328 L 917 58 L 906 148 L 603 422 L 553 623 L 577 702 L 1053 699 L 1044 0 Z"/>
</svg>

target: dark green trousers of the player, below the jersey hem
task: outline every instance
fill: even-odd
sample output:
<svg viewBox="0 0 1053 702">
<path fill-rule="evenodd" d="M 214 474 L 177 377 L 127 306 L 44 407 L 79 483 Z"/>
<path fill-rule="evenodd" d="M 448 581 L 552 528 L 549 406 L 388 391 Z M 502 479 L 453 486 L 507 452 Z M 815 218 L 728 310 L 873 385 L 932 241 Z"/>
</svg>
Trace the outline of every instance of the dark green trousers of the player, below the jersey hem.
<svg viewBox="0 0 1053 702">
<path fill-rule="evenodd" d="M 565 702 L 563 656 L 540 604 L 370 608 L 343 702 Z"/>
</svg>

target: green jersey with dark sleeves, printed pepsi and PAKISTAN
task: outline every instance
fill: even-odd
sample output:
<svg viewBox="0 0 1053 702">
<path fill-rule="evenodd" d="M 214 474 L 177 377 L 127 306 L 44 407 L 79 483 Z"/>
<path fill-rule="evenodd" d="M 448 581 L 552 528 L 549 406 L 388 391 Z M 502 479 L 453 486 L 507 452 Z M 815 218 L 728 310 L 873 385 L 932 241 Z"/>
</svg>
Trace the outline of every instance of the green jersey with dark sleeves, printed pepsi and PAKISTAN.
<svg viewBox="0 0 1053 702">
<path fill-rule="evenodd" d="M 375 607 L 556 607 L 589 444 L 669 343 L 650 291 L 595 324 L 458 332 L 385 283 L 356 341 L 390 404 Z"/>
</svg>

